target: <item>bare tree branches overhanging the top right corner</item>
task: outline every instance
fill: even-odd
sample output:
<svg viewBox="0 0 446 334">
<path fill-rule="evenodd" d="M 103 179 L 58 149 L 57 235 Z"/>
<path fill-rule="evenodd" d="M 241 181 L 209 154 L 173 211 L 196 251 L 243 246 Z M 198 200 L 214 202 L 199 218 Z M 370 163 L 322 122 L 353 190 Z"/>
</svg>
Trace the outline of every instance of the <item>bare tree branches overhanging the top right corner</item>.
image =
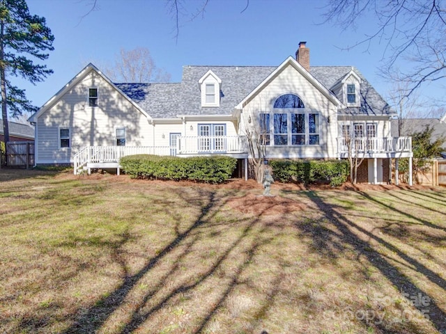
<svg viewBox="0 0 446 334">
<path fill-rule="evenodd" d="M 364 22 L 364 16 L 376 19 L 376 29 L 364 35 L 359 45 L 370 47 L 378 40 L 385 43 L 381 70 L 390 79 L 404 81 L 403 97 L 429 81 L 446 75 L 446 8 L 441 0 L 327 0 L 325 22 L 343 29 Z M 398 61 L 410 63 L 407 70 L 397 67 Z"/>
</svg>

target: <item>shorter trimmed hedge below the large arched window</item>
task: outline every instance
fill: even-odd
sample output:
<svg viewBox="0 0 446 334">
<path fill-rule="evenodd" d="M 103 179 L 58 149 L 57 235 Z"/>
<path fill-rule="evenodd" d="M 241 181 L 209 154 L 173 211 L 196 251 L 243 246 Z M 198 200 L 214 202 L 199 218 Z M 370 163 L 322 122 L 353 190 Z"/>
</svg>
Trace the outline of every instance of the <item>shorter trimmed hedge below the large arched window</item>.
<svg viewBox="0 0 446 334">
<path fill-rule="evenodd" d="M 340 186 L 350 174 L 346 160 L 272 160 L 274 177 L 280 182 L 329 183 Z"/>
</svg>

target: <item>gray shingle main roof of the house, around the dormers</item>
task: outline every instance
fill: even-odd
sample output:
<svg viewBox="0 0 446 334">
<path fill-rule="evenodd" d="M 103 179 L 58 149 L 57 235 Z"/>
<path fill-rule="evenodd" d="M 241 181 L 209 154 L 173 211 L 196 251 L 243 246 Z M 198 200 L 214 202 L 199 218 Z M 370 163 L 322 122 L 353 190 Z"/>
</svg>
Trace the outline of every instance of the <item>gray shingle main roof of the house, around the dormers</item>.
<svg viewBox="0 0 446 334">
<path fill-rule="evenodd" d="M 268 77 L 274 66 L 183 66 L 183 79 L 178 84 L 116 84 L 123 93 L 139 104 L 153 118 L 175 118 L 177 115 L 224 115 Z M 330 88 L 352 69 L 351 66 L 314 66 L 312 75 L 325 88 Z M 220 107 L 202 107 L 199 79 L 212 70 L 222 80 Z M 390 109 L 362 74 L 361 108 L 348 108 L 341 113 L 389 115 Z"/>
</svg>

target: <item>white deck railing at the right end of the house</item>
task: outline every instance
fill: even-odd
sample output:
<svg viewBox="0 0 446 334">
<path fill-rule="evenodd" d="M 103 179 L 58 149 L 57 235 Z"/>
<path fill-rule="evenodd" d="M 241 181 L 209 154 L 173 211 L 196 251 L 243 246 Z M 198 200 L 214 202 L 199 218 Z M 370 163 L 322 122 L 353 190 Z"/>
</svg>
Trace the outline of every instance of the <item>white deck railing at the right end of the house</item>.
<svg viewBox="0 0 446 334">
<path fill-rule="evenodd" d="M 390 138 L 337 138 L 338 152 L 352 154 L 357 153 L 394 153 L 412 152 L 412 137 Z"/>
</svg>

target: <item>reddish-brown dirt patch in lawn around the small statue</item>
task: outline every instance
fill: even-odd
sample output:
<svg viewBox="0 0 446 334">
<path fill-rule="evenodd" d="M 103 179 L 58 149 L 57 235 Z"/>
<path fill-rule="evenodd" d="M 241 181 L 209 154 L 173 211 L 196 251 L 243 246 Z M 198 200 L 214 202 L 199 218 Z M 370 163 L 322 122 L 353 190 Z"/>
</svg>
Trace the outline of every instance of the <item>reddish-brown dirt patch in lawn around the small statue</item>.
<svg viewBox="0 0 446 334">
<path fill-rule="evenodd" d="M 245 196 L 233 198 L 228 205 L 244 214 L 287 214 L 305 209 L 305 205 L 280 196 L 262 196 L 248 193 Z"/>
</svg>

